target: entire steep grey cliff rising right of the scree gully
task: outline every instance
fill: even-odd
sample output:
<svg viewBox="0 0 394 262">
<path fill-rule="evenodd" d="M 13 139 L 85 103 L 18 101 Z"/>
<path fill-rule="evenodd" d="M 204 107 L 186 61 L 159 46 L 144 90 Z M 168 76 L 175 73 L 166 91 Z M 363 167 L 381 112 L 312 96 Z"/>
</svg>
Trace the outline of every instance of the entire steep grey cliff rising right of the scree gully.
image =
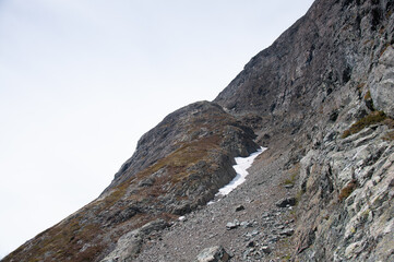
<svg viewBox="0 0 394 262">
<path fill-rule="evenodd" d="M 296 260 L 393 260 L 393 5 L 314 2 L 215 99 L 292 147 Z"/>
</svg>

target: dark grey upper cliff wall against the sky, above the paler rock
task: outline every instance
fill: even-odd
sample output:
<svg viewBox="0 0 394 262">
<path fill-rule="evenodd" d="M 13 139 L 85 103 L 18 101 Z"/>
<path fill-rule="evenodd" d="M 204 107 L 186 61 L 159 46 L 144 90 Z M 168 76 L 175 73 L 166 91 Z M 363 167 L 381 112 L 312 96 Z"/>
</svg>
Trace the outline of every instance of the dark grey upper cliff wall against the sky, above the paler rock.
<svg viewBox="0 0 394 262">
<path fill-rule="evenodd" d="M 357 92 L 363 96 L 370 91 L 375 109 L 393 117 L 393 100 L 385 93 L 392 88 L 390 67 L 377 67 L 387 64 L 379 59 L 393 44 L 392 5 L 392 1 L 315 1 L 253 57 L 215 102 L 246 121 L 258 121 L 255 131 L 262 138 L 295 134 L 314 126 L 308 121 L 330 120 L 347 104 L 346 96 L 354 99 Z M 385 83 L 378 84 L 383 75 Z"/>
</svg>

